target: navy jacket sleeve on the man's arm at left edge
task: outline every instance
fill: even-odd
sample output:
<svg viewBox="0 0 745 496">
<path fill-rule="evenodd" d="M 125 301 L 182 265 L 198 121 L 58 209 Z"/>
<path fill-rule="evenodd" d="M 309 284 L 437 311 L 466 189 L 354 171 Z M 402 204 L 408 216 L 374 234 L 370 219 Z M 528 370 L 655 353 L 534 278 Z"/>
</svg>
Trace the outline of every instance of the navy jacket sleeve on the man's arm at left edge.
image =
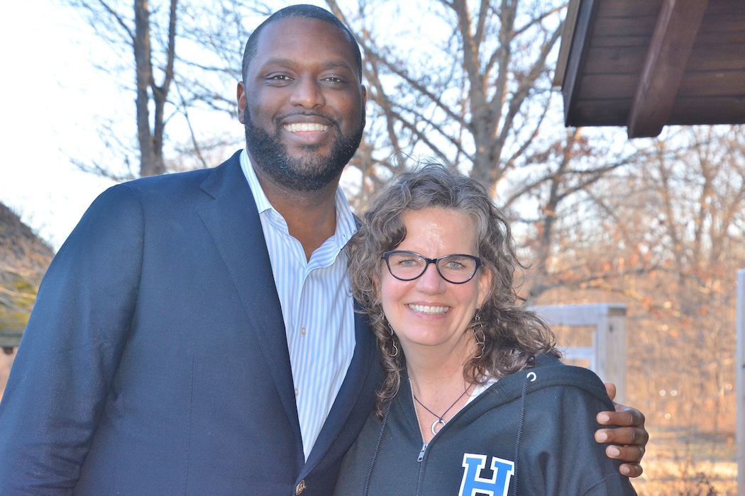
<svg viewBox="0 0 745 496">
<path fill-rule="evenodd" d="M 133 188 L 112 187 L 49 266 L 0 403 L 0 494 L 72 495 L 127 344 L 144 223 Z"/>
</svg>

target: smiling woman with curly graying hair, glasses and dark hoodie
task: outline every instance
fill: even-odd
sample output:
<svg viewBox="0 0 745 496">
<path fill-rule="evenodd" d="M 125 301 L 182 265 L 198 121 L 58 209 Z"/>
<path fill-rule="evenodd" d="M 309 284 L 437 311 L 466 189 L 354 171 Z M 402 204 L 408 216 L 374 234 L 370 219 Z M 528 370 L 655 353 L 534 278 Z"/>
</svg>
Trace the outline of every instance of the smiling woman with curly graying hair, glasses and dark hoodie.
<svg viewBox="0 0 745 496">
<path fill-rule="evenodd" d="M 484 187 L 439 164 L 404 173 L 348 253 L 386 378 L 335 494 L 635 494 L 593 438 L 605 387 L 523 306 Z"/>
</svg>

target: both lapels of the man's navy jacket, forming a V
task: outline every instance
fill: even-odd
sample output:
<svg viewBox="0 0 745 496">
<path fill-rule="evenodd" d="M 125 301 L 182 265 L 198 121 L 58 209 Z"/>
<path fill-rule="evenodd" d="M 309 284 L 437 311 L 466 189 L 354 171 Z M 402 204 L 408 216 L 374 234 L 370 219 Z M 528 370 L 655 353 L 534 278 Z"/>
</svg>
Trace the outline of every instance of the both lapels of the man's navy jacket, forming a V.
<svg viewBox="0 0 745 496">
<path fill-rule="evenodd" d="M 232 283 L 244 304 L 250 321 L 249 330 L 255 333 L 269 364 L 276 390 L 294 428 L 299 457 L 302 460 L 302 437 L 297 419 L 282 309 L 256 202 L 241 171 L 238 153 L 216 167 L 204 181 L 202 189 L 209 193 L 214 201 L 197 207 L 197 211 L 212 235 Z M 358 314 L 355 314 L 355 341 L 352 362 L 311 451 L 308 463 L 302 469 L 303 474 L 308 474 L 332 447 L 335 439 L 349 422 L 360 396 L 372 393 L 365 384 L 371 371 L 375 370 L 375 339 L 366 319 Z M 368 413 L 369 410 L 364 412 L 365 418 L 356 419 L 360 425 Z M 346 449 L 346 446 L 344 448 Z"/>
</svg>

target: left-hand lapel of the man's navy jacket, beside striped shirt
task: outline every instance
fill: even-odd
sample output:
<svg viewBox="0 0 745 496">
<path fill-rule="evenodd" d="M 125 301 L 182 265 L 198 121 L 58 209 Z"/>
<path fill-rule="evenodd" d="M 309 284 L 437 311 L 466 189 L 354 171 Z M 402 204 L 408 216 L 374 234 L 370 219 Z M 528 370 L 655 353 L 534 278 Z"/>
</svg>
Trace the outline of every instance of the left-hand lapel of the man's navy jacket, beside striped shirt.
<svg viewBox="0 0 745 496">
<path fill-rule="evenodd" d="M 259 213 L 241 170 L 239 154 L 216 167 L 204 181 L 202 189 L 214 201 L 197 210 L 244 304 L 251 328 L 247 330 L 255 333 L 266 357 L 302 457 L 285 323 Z"/>
</svg>

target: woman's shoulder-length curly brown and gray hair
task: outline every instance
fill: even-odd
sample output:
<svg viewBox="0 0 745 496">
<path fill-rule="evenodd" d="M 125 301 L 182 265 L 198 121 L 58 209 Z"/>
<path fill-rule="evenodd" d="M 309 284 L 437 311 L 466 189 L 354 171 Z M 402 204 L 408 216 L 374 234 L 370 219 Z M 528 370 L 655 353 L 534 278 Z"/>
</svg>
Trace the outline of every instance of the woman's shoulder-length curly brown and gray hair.
<svg viewBox="0 0 745 496">
<path fill-rule="evenodd" d="M 489 194 L 477 181 L 443 164 L 424 164 L 396 176 L 381 191 L 346 247 L 352 294 L 370 319 L 385 372 L 375 406 L 378 416 L 398 392 L 405 367 L 403 353 L 394 349 L 392 331 L 378 298 L 381 271 L 387 270 L 382 254 L 406 237 L 403 216 L 425 208 L 446 208 L 469 216 L 481 258 L 478 270 L 492 273 L 486 299 L 477 311 L 478 320 L 475 316 L 470 324 L 479 338 L 483 331 L 484 352 L 466 363 L 466 381 L 478 383 L 515 373 L 530 367 L 539 353 L 559 356 L 553 332 L 524 306 L 524 298 L 517 293 L 515 272 L 525 267 L 517 260 L 510 225 Z"/>
</svg>

